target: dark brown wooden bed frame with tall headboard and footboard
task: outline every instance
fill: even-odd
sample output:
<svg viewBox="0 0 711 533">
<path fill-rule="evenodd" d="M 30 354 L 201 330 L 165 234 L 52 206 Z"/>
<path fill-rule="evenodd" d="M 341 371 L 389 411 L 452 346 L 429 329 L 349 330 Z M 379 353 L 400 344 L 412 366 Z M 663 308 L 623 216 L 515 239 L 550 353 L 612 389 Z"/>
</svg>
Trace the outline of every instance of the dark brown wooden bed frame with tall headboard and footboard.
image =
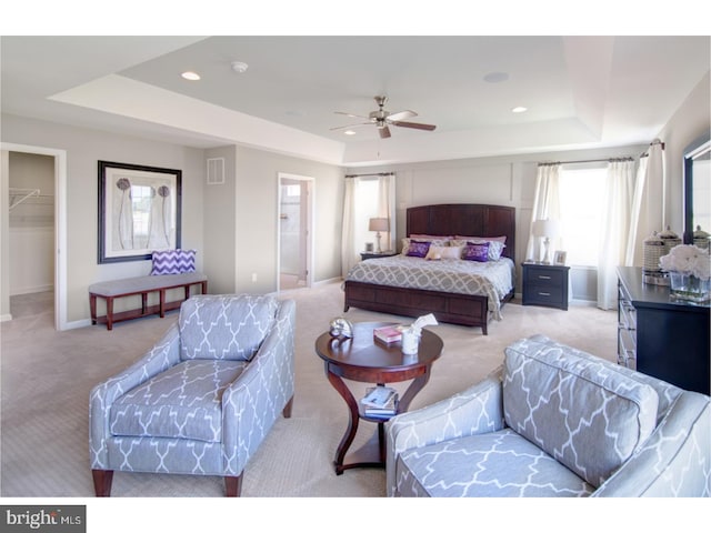
<svg viewBox="0 0 711 533">
<path fill-rule="evenodd" d="M 503 255 L 514 261 L 515 208 L 475 203 L 420 205 L 407 211 L 407 235 L 505 235 Z M 343 311 L 351 306 L 404 316 L 433 313 L 439 322 L 481 328 L 489 322 L 487 296 L 346 281 Z M 513 289 L 501 303 L 513 298 Z"/>
</svg>

